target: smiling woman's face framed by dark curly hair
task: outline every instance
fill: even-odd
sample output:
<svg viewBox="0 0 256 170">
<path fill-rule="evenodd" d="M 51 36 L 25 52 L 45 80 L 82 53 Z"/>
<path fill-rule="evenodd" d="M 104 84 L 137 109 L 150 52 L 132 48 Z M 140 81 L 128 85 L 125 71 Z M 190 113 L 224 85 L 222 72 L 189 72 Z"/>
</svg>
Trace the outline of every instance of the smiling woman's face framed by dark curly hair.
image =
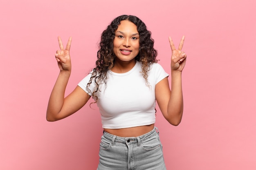
<svg viewBox="0 0 256 170">
<path fill-rule="evenodd" d="M 116 59 L 129 62 L 139 53 L 139 32 L 137 26 L 128 20 L 120 22 L 113 41 Z"/>
</svg>

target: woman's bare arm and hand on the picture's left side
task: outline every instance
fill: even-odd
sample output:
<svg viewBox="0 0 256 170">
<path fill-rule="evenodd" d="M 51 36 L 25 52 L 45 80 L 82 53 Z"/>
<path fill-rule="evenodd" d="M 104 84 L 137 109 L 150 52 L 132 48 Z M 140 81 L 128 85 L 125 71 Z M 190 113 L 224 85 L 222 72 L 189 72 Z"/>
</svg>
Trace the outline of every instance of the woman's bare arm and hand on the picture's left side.
<svg viewBox="0 0 256 170">
<path fill-rule="evenodd" d="M 63 48 L 61 38 L 58 37 L 60 51 L 57 50 L 55 57 L 60 68 L 60 73 L 52 89 L 46 112 L 47 121 L 56 121 L 68 117 L 82 108 L 90 99 L 82 88 L 77 86 L 70 95 L 64 98 L 65 89 L 71 73 L 70 46 L 72 38 L 70 37 L 66 49 Z"/>
</svg>

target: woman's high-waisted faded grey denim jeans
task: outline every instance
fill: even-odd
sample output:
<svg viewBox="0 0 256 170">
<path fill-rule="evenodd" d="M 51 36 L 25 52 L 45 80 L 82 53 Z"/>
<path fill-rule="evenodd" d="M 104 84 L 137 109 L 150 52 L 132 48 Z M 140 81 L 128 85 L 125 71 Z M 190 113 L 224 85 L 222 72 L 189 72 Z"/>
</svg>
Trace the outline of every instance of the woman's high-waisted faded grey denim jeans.
<svg viewBox="0 0 256 170">
<path fill-rule="evenodd" d="M 157 128 L 139 137 L 104 132 L 97 170 L 166 170 Z"/>
</svg>

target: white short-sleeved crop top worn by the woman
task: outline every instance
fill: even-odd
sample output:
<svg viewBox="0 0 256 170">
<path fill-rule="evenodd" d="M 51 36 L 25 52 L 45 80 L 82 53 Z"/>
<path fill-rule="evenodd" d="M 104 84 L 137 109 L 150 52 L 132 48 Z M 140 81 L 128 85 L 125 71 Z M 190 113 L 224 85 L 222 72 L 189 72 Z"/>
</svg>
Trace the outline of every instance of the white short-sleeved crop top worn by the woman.
<svg viewBox="0 0 256 170">
<path fill-rule="evenodd" d="M 149 86 L 141 73 L 141 63 L 126 73 L 108 71 L 106 84 L 99 86 L 97 106 L 103 128 L 119 129 L 155 123 L 155 85 L 168 76 L 162 66 L 153 63 L 148 71 Z M 78 86 L 92 96 L 95 82 L 86 89 L 92 72 Z M 95 98 L 94 98 L 95 100 Z"/>
</svg>

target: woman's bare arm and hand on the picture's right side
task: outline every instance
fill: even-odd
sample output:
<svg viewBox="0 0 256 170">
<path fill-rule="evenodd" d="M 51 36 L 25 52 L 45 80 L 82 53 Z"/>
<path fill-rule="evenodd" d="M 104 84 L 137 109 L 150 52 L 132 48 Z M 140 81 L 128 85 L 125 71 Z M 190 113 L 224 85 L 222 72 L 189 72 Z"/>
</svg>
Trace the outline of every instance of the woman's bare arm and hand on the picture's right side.
<svg viewBox="0 0 256 170">
<path fill-rule="evenodd" d="M 180 124 L 183 114 L 182 70 L 186 64 L 186 54 L 182 52 L 185 36 L 182 37 L 178 49 L 169 37 L 171 56 L 171 90 L 168 78 L 162 79 L 155 86 L 157 104 L 165 119 L 172 125 Z"/>
</svg>

